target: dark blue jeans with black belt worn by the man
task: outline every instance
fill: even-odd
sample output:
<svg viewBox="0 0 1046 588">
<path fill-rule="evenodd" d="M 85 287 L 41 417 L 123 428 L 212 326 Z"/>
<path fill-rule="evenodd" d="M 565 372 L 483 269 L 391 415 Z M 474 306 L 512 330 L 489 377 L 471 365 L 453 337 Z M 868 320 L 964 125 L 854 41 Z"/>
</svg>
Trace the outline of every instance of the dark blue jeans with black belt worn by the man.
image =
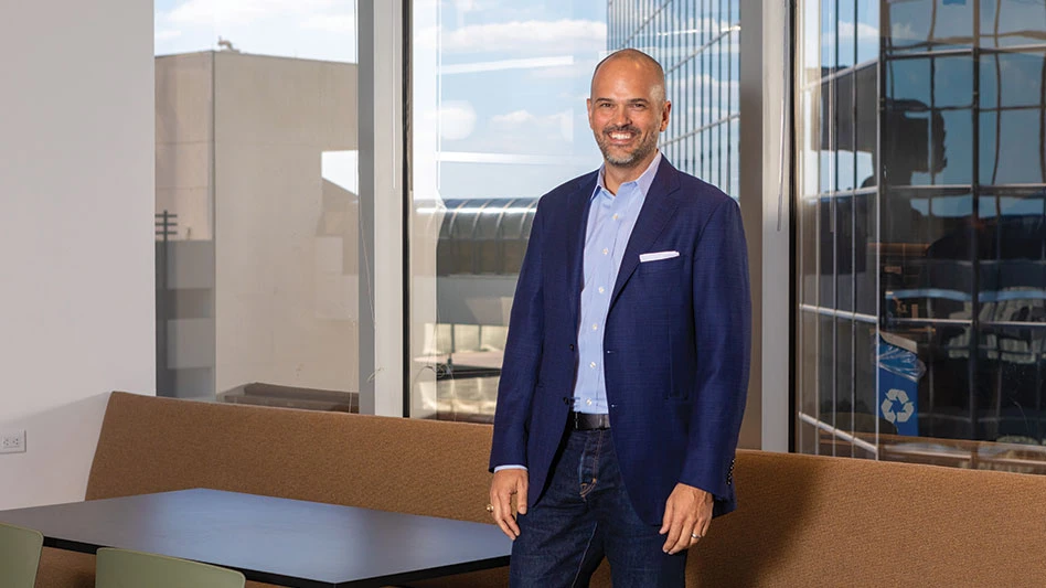
<svg viewBox="0 0 1046 588">
<path fill-rule="evenodd" d="M 606 557 L 613 588 L 682 588 L 686 552 L 662 552 L 665 538 L 658 533 L 660 525 L 649 525 L 636 514 L 625 492 L 610 431 L 567 435 L 548 490 L 519 516 L 510 585 L 585 587 Z"/>
</svg>

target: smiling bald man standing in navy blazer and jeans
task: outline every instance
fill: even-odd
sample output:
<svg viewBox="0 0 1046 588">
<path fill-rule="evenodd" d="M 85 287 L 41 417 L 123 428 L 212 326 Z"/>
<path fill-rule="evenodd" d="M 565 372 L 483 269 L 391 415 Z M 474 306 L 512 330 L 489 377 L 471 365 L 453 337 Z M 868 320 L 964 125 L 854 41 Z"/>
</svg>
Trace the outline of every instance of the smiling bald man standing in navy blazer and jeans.
<svg viewBox="0 0 1046 588">
<path fill-rule="evenodd" d="M 512 586 L 684 585 L 734 509 L 748 382 L 737 204 L 658 150 L 664 73 L 636 50 L 593 75 L 602 167 L 540 201 L 510 318 L 490 467 Z M 515 496 L 519 515 L 513 515 Z"/>
</svg>

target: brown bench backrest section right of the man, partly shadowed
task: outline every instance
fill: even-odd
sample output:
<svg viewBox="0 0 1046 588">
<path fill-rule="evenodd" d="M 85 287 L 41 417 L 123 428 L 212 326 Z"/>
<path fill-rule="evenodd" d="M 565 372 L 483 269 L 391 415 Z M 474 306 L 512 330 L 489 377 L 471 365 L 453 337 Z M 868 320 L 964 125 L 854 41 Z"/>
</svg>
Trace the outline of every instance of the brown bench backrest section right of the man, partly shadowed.
<svg viewBox="0 0 1046 588">
<path fill-rule="evenodd" d="M 739 451 L 701 586 L 1046 586 L 1046 477 Z"/>
</svg>

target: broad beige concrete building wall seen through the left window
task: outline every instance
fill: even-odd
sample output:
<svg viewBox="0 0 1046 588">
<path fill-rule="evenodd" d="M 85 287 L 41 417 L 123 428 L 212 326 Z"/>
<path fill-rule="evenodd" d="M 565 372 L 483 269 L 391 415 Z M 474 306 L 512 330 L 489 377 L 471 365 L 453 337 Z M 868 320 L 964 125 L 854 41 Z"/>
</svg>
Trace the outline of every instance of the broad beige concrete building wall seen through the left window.
<svg viewBox="0 0 1046 588">
<path fill-rule="evenodd" d="M 354 391 L 356 66 L 218 52 L 214 68 L 216 391 Z"/>
</svg>

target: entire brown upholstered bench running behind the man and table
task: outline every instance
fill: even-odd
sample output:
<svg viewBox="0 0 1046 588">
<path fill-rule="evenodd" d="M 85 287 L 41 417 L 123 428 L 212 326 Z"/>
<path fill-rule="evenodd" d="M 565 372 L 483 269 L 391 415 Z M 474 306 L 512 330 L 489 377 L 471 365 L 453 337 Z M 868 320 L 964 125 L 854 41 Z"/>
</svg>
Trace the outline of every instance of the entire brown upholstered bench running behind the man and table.
<svg viewBox="0 0 1046 588">
<path fill-rule="evenodd" d="M 491 429 L 114 393 L 87 500 L 215 488 L 487 522 Z M 1040 586 L 1046 478 L 739 451 L 691 586 Z M 505 570 L 425 586 L 504 586 Z M 38 587 L 90 588 L 45 548 Z M 595 586 L 609 586 L 606 566 Z M 260 585 L 253 585 L 260 586 Z"/>
</svg>

